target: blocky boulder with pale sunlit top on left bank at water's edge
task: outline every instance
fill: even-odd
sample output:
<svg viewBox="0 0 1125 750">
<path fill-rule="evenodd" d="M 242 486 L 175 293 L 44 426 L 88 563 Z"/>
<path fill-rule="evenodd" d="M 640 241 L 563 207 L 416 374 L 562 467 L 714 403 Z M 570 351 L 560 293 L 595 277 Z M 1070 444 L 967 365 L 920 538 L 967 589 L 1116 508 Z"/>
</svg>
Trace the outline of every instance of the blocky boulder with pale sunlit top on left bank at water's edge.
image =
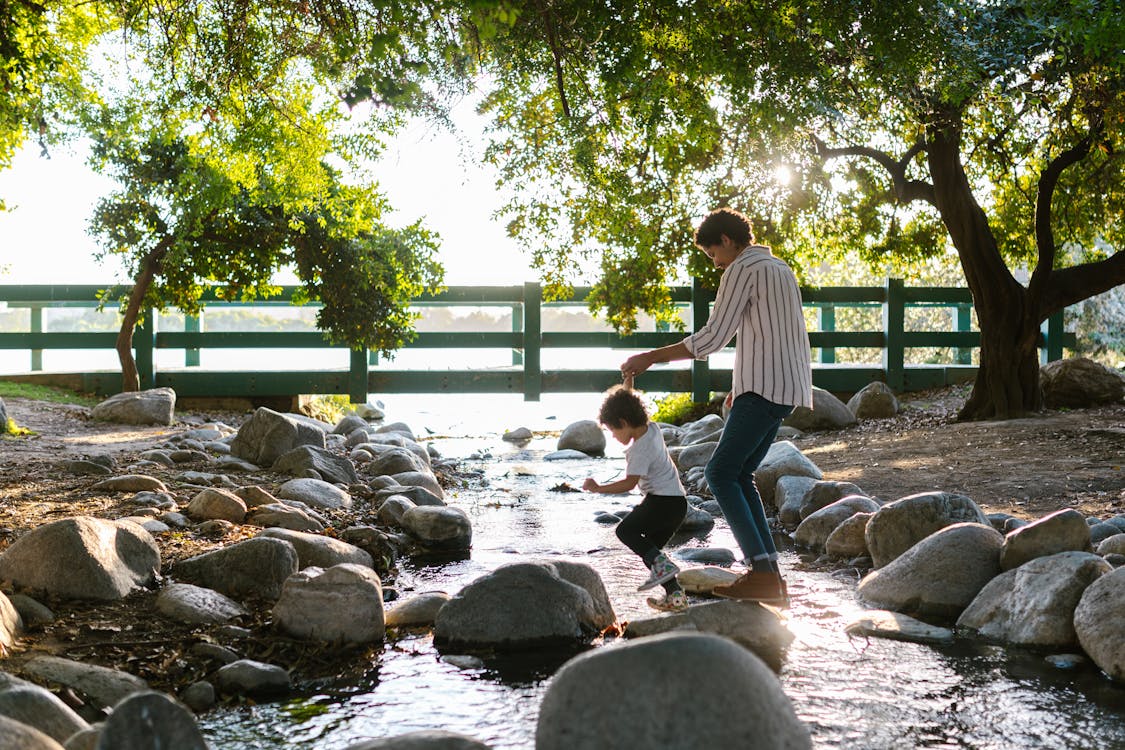
<svg viewBox="0 0 1125 750">
<path fill-rule="evenodd" d="M 289 635 L 325 643 L 381 641 L 382 582 L 370 567 L 349 562 L 326 570 L 305 568 L 286 580 L 273 624 Z"/>
</svg>

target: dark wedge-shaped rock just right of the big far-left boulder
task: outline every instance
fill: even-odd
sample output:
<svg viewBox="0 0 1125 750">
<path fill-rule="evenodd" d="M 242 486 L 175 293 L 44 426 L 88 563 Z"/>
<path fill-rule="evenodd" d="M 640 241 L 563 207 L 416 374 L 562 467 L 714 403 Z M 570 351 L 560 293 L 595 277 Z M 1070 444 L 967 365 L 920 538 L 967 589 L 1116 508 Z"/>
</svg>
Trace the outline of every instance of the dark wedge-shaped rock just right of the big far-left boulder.
<svg viewBox="0 0 1125 750">
<path fill-rule="evenodd" d="M 277 599 L 286 578 L 297 572 L 297 550 L 280 539 L 255 536 L 197 554 L 172 567 L 172 575 L 231 597 Z"/>
</svg>

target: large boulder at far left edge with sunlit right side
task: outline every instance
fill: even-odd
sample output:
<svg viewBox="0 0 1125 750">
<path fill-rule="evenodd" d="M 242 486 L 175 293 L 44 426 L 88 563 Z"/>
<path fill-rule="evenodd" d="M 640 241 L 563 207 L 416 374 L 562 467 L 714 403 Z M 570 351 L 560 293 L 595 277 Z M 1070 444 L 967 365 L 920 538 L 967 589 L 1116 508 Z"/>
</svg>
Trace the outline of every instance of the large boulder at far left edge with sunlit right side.
<svg viewBox="0 0 1125 750">
<path fill-rule="evenodd" d="M 152 585 L 158 570 L 148 532 L 89 516 L 37 526 L 0 553 L 0 579 L 69 599 L 122 599 Z"/>
</svg>

